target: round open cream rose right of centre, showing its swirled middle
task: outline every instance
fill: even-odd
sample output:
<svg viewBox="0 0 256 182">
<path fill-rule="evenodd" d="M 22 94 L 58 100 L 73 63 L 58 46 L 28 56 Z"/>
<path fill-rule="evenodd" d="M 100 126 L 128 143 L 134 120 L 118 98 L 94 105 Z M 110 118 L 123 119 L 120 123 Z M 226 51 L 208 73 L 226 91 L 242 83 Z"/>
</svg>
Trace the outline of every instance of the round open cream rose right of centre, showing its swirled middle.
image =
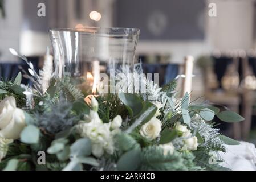
<svg viewBox="0 0 256 182">
<path fill-rule="evenodd" d="M 149 140 L 153 140 L 160 134 L 161 127 L 161 121 L 156 117 L 153 117 L 143 126 L 141 126 L 140 134 Z"/>
</svg>

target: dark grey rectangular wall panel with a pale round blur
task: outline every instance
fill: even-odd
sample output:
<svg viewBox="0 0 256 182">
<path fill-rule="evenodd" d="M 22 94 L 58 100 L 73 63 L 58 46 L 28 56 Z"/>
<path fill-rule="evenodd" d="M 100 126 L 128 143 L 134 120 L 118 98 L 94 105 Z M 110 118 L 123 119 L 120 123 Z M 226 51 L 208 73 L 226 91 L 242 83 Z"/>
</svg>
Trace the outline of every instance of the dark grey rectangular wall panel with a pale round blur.
<svg viewBox="0 0 256 182">
<path fill-rule="evenodd" d="M 144 40 L 204 39 L 204 0 L 117 0 L 115 26 L 140 28 Z"/>
</svg>

